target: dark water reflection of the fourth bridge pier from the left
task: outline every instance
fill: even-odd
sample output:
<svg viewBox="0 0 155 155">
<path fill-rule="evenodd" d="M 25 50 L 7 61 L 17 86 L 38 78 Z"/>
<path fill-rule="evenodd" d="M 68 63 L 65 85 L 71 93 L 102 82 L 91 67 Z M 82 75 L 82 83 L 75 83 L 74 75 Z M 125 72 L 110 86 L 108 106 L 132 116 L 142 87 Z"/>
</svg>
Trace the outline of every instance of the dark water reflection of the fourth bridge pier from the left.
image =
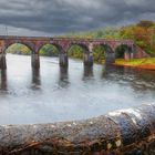
<svg viewBox="0 0 155 155">
<path fill-rule="evenodd" d="M 93 66 L 83 66 L 83 80 L 92 79 L 94 76 Z"/>
</svg>

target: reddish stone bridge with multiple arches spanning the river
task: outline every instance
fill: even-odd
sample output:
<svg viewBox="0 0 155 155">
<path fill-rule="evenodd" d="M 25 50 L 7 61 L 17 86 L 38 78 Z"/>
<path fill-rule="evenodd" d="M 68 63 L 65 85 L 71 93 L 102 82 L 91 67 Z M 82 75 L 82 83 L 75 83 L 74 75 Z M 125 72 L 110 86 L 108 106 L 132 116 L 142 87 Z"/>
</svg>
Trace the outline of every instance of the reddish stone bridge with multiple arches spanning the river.
<svg viewBox="0 0 155 155">
<path fill-rule="evenodd" d="M 44 37 L 0 37 L 0 68 L 6 69 L 6 50 L 14 43 L 27 45 L 31 51 L 31 60 L 33 68 L 40 68 L 40 49 L 45 44 L 54 45 L 60 55 L 60 65 L 68 66 L 68 50 L 71 45 L 80 45 L 84 51 L 84 64 L 93 64 L 93 49 L 102 45 L 105 49 L 105 62 L 113 63 L 115 61 L 115 51 L 118 46 L 127 46 L 124 51 L 124 59 L 143 58 L 147 54 L 135 45 L 132 40 L 106 40 L 106 39 L 75 39 L 75 38 L 44 38 Z"/>
</svg>

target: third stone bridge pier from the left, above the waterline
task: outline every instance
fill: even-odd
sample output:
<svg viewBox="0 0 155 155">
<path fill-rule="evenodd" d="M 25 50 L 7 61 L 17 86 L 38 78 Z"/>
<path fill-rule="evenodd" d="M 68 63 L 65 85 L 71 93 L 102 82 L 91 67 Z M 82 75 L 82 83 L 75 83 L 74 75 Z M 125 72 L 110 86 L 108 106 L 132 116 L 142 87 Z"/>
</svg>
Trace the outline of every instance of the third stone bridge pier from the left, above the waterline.
<svg viewBox="0 0 155 155">
<path fill-rule="evenodd" d="M 68 54 L 66 53 L 60 53 L 60 55 L 59 55 L 59 64 L 60 64 L 60 66 L 68 68 L 69 60 L 68 60 Z"/>
</svg>

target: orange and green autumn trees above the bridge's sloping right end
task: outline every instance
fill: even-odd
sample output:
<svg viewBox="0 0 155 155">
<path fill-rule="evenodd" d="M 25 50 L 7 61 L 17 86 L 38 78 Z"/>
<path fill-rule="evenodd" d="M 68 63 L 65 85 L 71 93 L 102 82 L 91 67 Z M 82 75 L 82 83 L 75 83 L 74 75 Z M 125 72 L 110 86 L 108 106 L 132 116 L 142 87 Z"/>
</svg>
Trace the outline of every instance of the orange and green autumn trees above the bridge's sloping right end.
<svg viewBox="0 0 155 155">
<path fill-rule="evenodd" d="M 155 22 L 141 21 L 135 25 L 120 30 L 121 39 L 133 39 L 135 43 L 152 56 L 155 56 Z"/>
</svg>

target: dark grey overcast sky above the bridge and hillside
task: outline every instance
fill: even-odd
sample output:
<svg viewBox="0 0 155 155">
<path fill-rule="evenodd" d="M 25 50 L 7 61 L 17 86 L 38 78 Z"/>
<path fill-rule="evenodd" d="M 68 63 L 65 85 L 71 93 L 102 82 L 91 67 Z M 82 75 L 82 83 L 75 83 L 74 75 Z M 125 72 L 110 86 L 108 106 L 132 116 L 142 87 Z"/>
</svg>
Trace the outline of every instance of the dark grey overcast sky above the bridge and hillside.
<svg viewBox="0 0 155 155">
<path fill-rule="evenodd" d="M 0 34 L 58 35 L 140 20 L 155 20 L 155 0 L 0 0 Z"/>
</svg>

